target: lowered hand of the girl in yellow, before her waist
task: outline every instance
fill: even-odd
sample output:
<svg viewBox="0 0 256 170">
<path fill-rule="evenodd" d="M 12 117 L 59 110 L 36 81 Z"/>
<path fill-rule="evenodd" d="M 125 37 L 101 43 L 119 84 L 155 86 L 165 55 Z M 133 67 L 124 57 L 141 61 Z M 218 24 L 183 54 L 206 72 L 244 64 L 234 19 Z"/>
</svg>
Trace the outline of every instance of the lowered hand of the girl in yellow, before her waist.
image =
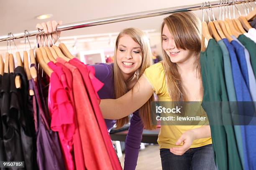
<svg viewBox="0 0 256 170">
<path fill-rule="evenodd" d="M 174 155 L 183 155 L 187 150 L 189 150 L 192 142 L 195 140 L 195 133 L 193 130 L 187 130 L 181 135 L 177 140 L 176 145 L 180 145 L 183 142 L 183 145 L 180 147 L 170 148 L 170 152 Z"/>
</svg>

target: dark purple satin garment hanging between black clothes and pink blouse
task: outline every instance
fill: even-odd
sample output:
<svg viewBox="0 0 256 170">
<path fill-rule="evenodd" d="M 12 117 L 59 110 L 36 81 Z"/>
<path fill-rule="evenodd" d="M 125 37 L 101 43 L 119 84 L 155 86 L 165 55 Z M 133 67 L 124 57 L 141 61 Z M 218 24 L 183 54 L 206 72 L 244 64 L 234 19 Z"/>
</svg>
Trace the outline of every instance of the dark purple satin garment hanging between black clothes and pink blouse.
<svg viewBox="0 0 256 170">
<path fill-rule="evenodd" d="M 31 67 L 35 67 L 37 70 L 36 65 L 31 64 Z M 46 115 L 46 104 L 42 95 L 43 90 L 41 84 L 38 83 L 40 82 L 38 79 L 37 81 L 33 81 L 33 91 L 35 92 L 34 96 L 36 100 L 36 102 L 33 102 L 36 104 L 33 105 L 33 108 L 34 112 L 36 112 L 36 118 L 38 122 L 36 141 L 38 167 L 40 170 L 65 170 L 58 134 L 51 131 L 49 128 L 49 116 Z"/>
</svg>

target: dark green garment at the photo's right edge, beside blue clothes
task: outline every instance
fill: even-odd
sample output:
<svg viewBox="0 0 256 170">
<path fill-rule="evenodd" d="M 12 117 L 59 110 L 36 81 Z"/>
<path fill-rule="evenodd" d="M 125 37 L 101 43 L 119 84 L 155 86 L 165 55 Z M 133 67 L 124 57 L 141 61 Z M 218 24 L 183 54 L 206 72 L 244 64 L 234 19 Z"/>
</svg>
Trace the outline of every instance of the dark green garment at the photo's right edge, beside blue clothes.
<svg viewBox="0 0 256 170">
<path fill-rule="evenodd" d="M 245 35 L 239 35 L 238 40 L 246 47 L 250 53 L 251 67 L 256 77 L 256 43 Z"/>
</svg>

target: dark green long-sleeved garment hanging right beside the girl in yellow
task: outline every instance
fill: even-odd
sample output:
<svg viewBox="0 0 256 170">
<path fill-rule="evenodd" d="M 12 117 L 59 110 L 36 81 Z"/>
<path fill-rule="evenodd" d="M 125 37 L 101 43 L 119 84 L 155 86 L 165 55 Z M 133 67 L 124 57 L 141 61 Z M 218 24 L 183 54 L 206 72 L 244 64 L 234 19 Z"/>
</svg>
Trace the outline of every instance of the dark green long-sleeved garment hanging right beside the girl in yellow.
<svg viewBox="0 0 256 170">
<path fill-rule="evenodd" d="M 210 39 L 205 52 L 200 53 L 204 96 L 202 107 L 210 122 L 212 143 L 220 170 L 241 170 L 230 108 L 225 86 L 223 55 L 220 46 Z M 212 104 L 209 104 L 209 101 Z M 224 104 L 222 103 L 224 102 Z M 224 125 L 220 125 L 225 120 Z"/>
</svg>

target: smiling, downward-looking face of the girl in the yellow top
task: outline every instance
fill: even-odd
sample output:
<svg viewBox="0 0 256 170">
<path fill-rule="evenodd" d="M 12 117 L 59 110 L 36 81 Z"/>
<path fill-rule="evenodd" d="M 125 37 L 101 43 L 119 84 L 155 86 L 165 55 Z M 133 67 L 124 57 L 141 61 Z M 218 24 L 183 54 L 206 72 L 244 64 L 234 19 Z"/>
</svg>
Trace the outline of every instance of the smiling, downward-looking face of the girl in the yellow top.
<svg viewBox="0 0 256 170">
<path fill-rule="evenodd" d="M 172 62 L 181 63 L 186 61 L 189 56 L 191 56 L 189 54 L 189 50 L 177 48 L 175 45 L 174 37 L 172 36 L 166 24 L 163 28 L 162 41 L 162 47 Z"/>
</svg>

